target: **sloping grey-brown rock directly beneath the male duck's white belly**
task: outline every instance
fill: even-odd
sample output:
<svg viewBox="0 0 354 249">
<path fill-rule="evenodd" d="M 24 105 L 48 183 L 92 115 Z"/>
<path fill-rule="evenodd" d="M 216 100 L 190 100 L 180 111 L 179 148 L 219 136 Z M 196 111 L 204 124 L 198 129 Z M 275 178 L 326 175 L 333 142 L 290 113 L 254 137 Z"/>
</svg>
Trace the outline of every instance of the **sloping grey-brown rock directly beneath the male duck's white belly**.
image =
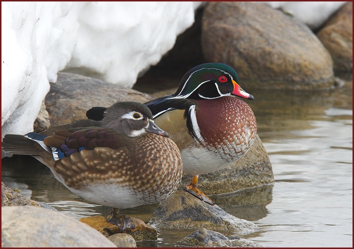
<svg viewBox="0 0 354 249">
<path fill-rule="evenodd" d="M 192 175 L 184 175 L 181 185 L 187 186 Z M 198 188 L 206 195 L 234 192 L 274 182 L 272 164 L 258 135 L 251 149 L 238 161 L 224 169 L 199 175 Z"/>
</svg>

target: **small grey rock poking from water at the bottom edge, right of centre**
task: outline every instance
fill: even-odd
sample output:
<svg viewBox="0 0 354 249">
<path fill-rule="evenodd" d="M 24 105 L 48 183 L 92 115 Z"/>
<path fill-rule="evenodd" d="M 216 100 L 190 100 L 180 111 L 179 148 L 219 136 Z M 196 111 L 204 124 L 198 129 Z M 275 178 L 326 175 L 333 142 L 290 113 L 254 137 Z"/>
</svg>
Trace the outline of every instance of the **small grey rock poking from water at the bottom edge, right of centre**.
<svg viewBox="0 0 354 249">
<path fill-rule="evenodd" d="M 223 234 L 205 228 L 192 232 L 176 243 L 176 247 L 231 247 Z"/>
</svg>

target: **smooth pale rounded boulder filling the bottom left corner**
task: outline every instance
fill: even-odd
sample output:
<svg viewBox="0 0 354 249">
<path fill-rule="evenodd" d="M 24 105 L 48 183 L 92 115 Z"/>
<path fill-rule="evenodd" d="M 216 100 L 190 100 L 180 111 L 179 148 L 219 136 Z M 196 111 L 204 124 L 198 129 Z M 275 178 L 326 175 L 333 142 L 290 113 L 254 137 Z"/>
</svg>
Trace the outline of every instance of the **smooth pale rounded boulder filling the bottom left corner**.
<svg viewBox="0 0 354 249">
<path fill-rule="evenodd" d="M 39 207 L 1 207 L 1 247 L 116 247 L 74 218 Z"/>
</svg>

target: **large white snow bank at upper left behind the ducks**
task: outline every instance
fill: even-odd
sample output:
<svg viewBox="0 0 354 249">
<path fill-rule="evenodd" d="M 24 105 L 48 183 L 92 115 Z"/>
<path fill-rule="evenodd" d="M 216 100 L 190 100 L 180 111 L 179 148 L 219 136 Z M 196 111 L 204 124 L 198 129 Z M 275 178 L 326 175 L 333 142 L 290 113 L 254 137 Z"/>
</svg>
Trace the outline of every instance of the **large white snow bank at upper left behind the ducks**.
<svg viewBox="0 0 354 249">
<path fill-rule="evenodd" d="M 200 2 L 1 2 L 1 136 L 33 130 L 64 68 L 132 87 Z M 86 73 L 88 74 L 88 73 Z"/>
</svg>

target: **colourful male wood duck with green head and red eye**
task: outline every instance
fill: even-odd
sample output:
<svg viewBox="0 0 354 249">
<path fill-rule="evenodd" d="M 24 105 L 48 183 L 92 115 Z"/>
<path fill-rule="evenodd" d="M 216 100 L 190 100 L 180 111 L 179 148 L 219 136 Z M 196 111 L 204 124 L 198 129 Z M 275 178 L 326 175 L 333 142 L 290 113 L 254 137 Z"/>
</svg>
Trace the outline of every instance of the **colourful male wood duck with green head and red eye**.
<svg viewBox="0 0 354 249">
<path fill-rule="evenodd" d="M 205 63 L 189 70 L 174 94 L 145 103 L 155 123 L 170 134 L 183 162 L 183 173 L 193 174 L 185 190 L 214 203 L 197 189 L 199 174 L 214 172 L 240 159 L 253 145 L 257 126 L 248 104 L 254 100 L 238 85 L 236 71 L 223 63 Z M 100 120 L 104 107 L 86 116 Z"/>
</svg>

